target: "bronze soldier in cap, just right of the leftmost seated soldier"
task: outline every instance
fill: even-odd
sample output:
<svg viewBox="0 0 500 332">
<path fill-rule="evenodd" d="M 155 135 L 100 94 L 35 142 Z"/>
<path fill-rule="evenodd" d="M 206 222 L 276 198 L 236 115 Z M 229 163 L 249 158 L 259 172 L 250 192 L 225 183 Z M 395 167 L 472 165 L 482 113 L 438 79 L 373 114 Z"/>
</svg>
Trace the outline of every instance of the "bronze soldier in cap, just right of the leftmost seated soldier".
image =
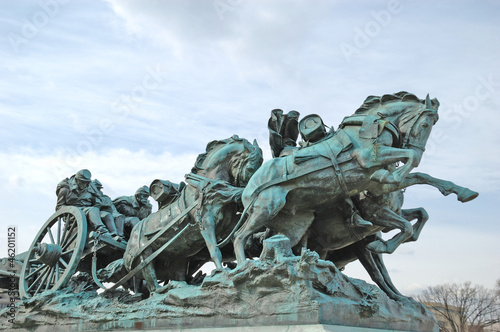
<svg viewBox="0 0 500 332">
<path fill-rule="evenodd" d="M 125 236 L 130 234 L 132 228 L 142 219 L 149 216 L 153 206 L 148 201 L 149 188 L 142 186 L 134 196 L 120 196 L 113 200 L 116 210 L 125 216 Z"/>
</svg>

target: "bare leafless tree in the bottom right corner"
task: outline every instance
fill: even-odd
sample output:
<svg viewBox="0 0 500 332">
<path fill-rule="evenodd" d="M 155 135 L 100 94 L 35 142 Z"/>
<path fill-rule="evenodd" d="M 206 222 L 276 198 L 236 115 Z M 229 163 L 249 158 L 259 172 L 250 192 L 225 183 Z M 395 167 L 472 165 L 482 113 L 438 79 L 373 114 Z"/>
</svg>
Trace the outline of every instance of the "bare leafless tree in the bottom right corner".
<svg viewBox="0 0 500 332">
<path fill-rule="evenodd" d="M 470 281 L 431 286 L 417 296 L 436 314 L 443 332 L 500 331 L 500 279 L 495 290 Z"/>
</svg>

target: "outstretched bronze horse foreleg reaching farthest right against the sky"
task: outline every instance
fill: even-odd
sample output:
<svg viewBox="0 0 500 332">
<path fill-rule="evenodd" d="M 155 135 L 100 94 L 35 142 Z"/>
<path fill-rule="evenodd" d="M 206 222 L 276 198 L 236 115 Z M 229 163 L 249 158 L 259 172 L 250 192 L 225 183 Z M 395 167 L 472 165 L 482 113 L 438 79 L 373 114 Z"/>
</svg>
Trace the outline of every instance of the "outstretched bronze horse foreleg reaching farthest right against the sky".
<svg viewBox="0 0 500 332">
<path fill-rule="evenodd" d="M 429 174 L 420 172 L 408 174 L 408 176 L 400 184 L 399 189 L 413 186 L 415 184 L 430 185 L 438 189 L 444 196 L 448 196 L 449 194 L 453 193 L 457 195 L 457 199 L 462 203 L 469 202 L 479 195 L 479 193 L 470 190 L 469 188 L 462 187 L 454 184 L 451 181 L 441 180 L 430 176 Z"/>
</svg>

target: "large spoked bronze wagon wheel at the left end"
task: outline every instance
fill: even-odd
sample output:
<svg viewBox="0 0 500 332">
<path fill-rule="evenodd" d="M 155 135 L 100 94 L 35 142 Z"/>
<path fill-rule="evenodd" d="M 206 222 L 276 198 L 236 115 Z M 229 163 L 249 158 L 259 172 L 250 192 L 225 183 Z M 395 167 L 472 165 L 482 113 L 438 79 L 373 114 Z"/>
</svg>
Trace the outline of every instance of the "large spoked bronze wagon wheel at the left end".
<svg viewBox="0 0 500 332">
<path fill-rule="evenodd" d="M 19 278 L 22 298 L 46 290 L 58 290 L 75 273 L 87 239 L 83 212 L 65 206 L 54 213 L 38 232 L 24 260 Z"/>
</svg>

